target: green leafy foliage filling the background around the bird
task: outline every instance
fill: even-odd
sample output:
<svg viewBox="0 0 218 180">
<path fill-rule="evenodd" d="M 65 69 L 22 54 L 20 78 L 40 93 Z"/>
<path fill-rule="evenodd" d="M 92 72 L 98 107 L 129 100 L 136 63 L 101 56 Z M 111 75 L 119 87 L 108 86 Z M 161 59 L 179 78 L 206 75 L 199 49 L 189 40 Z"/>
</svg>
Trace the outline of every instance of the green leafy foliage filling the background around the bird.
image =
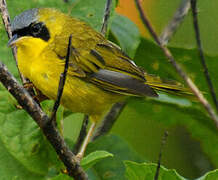
<svg viewBox="0 0 218 180">
<path fill-rule="evenodd" d="M 12 17 L 33 7 L 58 8 L 88 22 L 99 31 L 105 2 L 106 0 L 96 0 L 93 6 L 90 0 L 74 0 L 68 3 L 61 0 L 10 0 L 8 8 Z M 109 24 L 110 40 L 119 44 L 149 73 L 158 74 L 165 79 L 182 81 L 159 47 L 152 41 L 141 38 L 136 25 L 128 18 L 116 14 L 114 10 L 115 3 Z M 2 24 L 0 42 L 0 60 L 18 77 L 11 51 L 6 46 L 7 36 Z M 197 50 L 176 46 L 170 49 L 176 60 L 184 66 L 195 83 L 209 97 L 203 72 L 199 70 L 201 66 Z M 208 55 L 206 60 L 212 80 L 215 82 L 218 79 L 217 57 Z M 217 83 L 215 87 L 218 89 Z M 51 102 L 43 103 L 46 112 L 49 112 L 51 104 Z M 64 136 L 71 146 L 76 141 L 83 116 L 63 113 L 63 109 L 60 109 L 58 118 L 64 119 Z M 163 164 L 169 169 L 176 170 L 161 166 L 160 179 L 180 180 L 185 179 L 182 177 L 185 174 L 197 177 L 207 171 L 199 180 L 218 179 L 217 170 L 212 171 L 218 167 L 218 134 L 213 122 L 198 102 L 163 93 L 160 93 L 159 99 L 131 98 L 112 129 L 116 135 L 107 135 L 92 142 L 88 146 L 88 155 L 83 159 L 82 166 L 91 180 L 153 179 L 156 165 L 150 162 L 157 160 L 160 139 L 166 129 L 170 131 L 170 136 L 164 150 Z M 0 144 L 2 180 L 71 179 L 60 173 L 64 170 L 64 166 L 39 127 L 26 112 L 19 109 L 16 101 L 2 86 L 0 86 Z M 192 172 L 189 172 L 189 169 Z"/>
</svg>

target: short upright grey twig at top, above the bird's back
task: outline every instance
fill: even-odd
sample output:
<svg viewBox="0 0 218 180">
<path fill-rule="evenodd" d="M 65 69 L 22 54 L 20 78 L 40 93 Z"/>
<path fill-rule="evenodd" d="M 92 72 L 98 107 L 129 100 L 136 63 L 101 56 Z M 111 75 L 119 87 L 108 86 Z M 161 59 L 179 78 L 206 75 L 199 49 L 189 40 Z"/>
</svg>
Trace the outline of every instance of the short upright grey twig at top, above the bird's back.
<svg viewBox="0 0 218 180">
<path fill-rule="evenodd" d="M 108 20 L 110 17 L 110 11 L 111 11 L 111 4 L 112 0 L 107 0 L 106 5 L 105 5 L 105 10 L 104 10 L 104 17 L 103 17 L 103 23 L 101 27 L 101 33 L 105 36 L 107 32 L 107 27 L 108 27 Z"/>
</svg>

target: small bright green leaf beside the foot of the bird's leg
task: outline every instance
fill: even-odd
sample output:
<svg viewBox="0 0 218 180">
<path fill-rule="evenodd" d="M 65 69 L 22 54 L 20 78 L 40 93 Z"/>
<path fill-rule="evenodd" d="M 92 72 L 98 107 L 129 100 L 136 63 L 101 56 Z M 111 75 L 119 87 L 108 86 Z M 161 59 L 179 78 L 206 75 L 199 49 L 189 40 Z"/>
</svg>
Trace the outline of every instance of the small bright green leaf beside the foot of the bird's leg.
<svg viewBox="0 0 218 180">
<path fill-rule="evenodd" d="M 84 168 L 84 170 L 89 169 L 94 164 L 96 164 L 98 161 L 107 158 L 107 157 L 113 157 L 113 154 L 107 152 L 107 151 L 94 151 L 85 156 L 81 161 L 81 166 Z"/>
</svg>

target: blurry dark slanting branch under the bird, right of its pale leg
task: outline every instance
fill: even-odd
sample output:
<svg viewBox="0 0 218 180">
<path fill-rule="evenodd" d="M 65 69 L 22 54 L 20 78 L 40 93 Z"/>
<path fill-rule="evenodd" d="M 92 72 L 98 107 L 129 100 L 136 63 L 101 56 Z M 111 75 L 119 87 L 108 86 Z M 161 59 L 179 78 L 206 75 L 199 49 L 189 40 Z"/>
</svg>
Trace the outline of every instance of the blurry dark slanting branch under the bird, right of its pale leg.
<svg viewBox="0 0 218 180">
<path fill-rule="evenodd" d="M 125 105 L 126 102 L 119 102 L 113 105 L 110 112 L 105 116 L 101 125 L 98 127 L 95 134 L 93 135 L 92 141 L 97 139 L 99 136 L 107 134 L 111 130 L 120 113 L 124 109 Z"/>
</svg>

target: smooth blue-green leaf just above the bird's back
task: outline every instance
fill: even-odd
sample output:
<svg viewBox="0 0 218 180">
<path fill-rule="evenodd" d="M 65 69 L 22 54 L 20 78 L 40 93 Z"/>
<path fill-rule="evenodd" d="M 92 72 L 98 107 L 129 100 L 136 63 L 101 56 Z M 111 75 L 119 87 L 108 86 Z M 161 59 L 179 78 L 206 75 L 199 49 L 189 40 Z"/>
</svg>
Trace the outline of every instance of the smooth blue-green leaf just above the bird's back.
<svg viewBox="0 0 218 180">
<path fill-rule="evenodd" d="M 111 24 L 111 32 L 122 50 L 133 58 L 141 41 L 137 26 L 128 18 L 116 14 Z"/>
</svg>

